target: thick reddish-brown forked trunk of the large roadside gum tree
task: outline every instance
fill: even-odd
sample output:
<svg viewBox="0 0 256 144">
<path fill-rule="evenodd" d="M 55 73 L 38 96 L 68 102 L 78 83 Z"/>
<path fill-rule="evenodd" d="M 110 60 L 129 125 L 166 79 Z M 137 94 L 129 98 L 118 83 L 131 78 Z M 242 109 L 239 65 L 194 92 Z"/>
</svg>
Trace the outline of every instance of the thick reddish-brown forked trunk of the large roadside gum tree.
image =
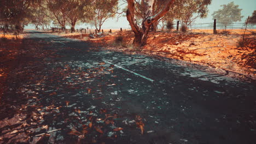
<svg viewBox="0 0 256 144">
<path fill-rule="evenodd" d="M 158 20 L 164 16 L 171 7 L 174 0 L 168 0 L 166 6 L 158 14 L 153 16 L 153 4 L 155 0 L 144 0 L 142 4 L 144 5 L 145 11 L 143 11 L 144 19 L 142 21 L 142 26 L 140 27 L 135 19 L 135 0 L 128 0 L 128 9 L 126 11 L 127 21 L 129 21 L 133 33 L 135 33 L 135 39 L 133 44 L 135 46 L 144 46 L 147 44 L 148 32 L 150 26 L 153 23 L 157 23 Z"/>
</svg>

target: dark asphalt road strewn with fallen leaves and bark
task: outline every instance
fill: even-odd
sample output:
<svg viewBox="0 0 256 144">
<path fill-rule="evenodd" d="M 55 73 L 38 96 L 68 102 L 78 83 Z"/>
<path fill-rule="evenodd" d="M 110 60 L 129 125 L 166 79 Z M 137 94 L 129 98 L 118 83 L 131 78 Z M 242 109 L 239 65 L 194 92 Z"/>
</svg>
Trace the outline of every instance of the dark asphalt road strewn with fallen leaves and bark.
<svg viewBox="0 0 256 144">
<path fill-rule="evenodd" d="M 26 95 L 29 99 L 20 103 L 40 105 L 38 112 L 45 110 L 40 124 L 61 130 L 50 133 L 44 142 L 256 141 L 255 83 L 201 65 L 106 51 L 51 34 L 33 32 L 28 37 L 24 49 L 38 41 L 30 49 L 50 52 L 21 58 L 4 96 Z M 57 108 L 49 112 L 46 106 L 51 105 Z M 88 133 L 79 137 L 90 123 Z M 72 128 L 80 132 L 71 134 Z"/>
</svg>

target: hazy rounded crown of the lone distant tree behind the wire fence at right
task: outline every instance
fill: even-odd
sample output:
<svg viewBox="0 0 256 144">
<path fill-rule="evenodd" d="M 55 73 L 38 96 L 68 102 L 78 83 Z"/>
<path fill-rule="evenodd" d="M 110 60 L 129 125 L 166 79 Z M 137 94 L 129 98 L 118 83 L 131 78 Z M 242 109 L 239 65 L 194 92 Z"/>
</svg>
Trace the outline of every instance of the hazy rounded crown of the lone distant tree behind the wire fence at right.
<svg viewBox="0 0 256 144">
<path fill-rule="evenodd" d="M 214 11 L 212 14 L 213 19 L 217 19 L 217 22 L 220 22 L 223 26 L 225 26 L 225 29 L 227 26 L 229 26 L 232 22 L 241 21 L 241 10 L 239 9 L 239 5 L 235 5 L 234 2 L 220 5 L 223 7 L 222 9 L 219 9 L 218 11 Z"/>
</svg>

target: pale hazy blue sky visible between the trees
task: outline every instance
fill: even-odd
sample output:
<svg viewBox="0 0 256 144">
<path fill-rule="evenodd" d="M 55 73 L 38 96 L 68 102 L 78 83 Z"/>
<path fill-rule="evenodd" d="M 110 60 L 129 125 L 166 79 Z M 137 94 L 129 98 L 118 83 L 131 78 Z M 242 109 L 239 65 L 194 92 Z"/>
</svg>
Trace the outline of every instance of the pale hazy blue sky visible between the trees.
<svg viewBox="0 0 256 144">
<path fill-rule="evenodd" d="M 251 16 L 253 11 L 256 10 L 256 1 L 255 0 L 212 0 L 212 4 L 208 6 L 208 9 L 210 10 L 208 13 L 208 17 L 205 19 L 197 19 L 195 23 L 210 23 L 213 22 L 212 20 L 212 13 L 213 11 L 217 11 L 218 9 L 222 8 L 220 5 L 222 4 L 228 4 L 230 2 L 234 2 L 236 5 L 239 5 L 239 8 L 242 9 L 241 14 L 244 16 L 242 18 L 241 22 L 245 22 L 248 16 Z M 124 5 L 125 6 L 125 5 Z M 85 25 L 78 25 L 76 28 L 86 28 L 91 26 L 85 26 Z M 123 29 L 129 28 L 129 23 L 126 20 L 126 17 L 120 17 L 117 21 L 117 18 L 109 19 L 107 20 L 102 28 L 103 29 L 119 29 L 122 27 Z M 26 28 L 33 28 L 31 26 L 27 26 Z M 95 29 L 94 27 L 92 27 Z"/>
</svg>

